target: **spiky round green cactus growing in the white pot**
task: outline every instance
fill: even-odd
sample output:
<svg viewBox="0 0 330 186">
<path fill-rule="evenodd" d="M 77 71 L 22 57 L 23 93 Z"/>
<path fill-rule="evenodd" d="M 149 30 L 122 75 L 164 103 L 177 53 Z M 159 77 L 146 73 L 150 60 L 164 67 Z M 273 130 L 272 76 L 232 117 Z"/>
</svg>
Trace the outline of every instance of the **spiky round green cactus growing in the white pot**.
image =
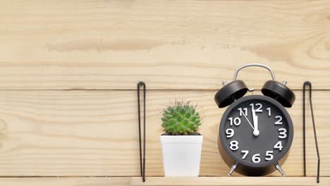
<svg viewBox="0 0 330 186">
<path fill-rule="evenodd" d="M 164 135 L 200 135 L 197 132 L 201 125 L 200 113 L 196 111 L 196 105 L 190 101 L 176 101 L 164 109 L 163 123 Z"/>
</svg>

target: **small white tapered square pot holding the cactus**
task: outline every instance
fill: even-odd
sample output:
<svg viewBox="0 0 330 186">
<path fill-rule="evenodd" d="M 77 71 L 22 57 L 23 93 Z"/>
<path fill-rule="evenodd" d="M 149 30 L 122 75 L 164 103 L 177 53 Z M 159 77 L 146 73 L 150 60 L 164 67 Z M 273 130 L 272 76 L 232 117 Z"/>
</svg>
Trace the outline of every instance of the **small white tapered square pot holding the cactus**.
<svg viewBox="0 0 330 186">
<path fill-rule="evenodd" d="M 161 135 L 165 176 L 198 176 L 202 135 Z"/>
</svg>

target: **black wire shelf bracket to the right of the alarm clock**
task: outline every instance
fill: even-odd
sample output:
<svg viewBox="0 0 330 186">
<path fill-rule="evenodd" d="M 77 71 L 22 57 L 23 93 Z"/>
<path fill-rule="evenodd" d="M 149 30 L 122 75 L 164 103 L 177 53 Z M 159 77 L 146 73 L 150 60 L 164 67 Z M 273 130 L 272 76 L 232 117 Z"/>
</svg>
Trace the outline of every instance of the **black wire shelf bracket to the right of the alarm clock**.
<svg viewBox="0 0 330 186">
<path fill-rule="evenodd" d="M 319 157 L 319 145 L 317 143 L 317 133 L 316 133 L 316 128 L 315 128 L 315 121 L 314 121 L 314 112 L 313 112 L 313 104 L 312 104 L 312 83 L 309 81 L 304 82 L 303 85 L 303 93 L 302 93 L 302 127 L 303 127 L 303 133 L 302 133 L 302 137 L 303 137 L 303 149 L 304 149 L 304 176 L 306 176 L 306 128 L 305 128 L 305 118 L 306 118 L 306 108 L 305 108 L 305 92 L 306 92 L 306 87 L 309 87 L 309 92 L 310 92 L 310 112 L 312 115 L 312 123 L 313 123 L 313 131 L 314 131 L 314 141 L 315 141 L 315 147 L 316 147 L 316 151 L 317 151 L 317 183 L 319 183 L 319 165 L 320 165 L 320 157 Z"/>
</svg>

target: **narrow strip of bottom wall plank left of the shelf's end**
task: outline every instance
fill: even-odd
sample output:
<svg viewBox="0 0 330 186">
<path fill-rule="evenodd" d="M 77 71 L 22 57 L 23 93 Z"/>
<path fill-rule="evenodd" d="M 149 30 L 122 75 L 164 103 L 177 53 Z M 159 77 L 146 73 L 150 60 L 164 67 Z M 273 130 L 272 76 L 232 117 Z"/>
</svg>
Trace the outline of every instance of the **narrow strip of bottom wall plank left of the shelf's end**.
<svg viewBox="0 0 330 186">
<path fill-rule="evenodd" d="M 130 178 L 0 178 L 0 184 L 11 186 L 128 186 Z"/>
</svg>

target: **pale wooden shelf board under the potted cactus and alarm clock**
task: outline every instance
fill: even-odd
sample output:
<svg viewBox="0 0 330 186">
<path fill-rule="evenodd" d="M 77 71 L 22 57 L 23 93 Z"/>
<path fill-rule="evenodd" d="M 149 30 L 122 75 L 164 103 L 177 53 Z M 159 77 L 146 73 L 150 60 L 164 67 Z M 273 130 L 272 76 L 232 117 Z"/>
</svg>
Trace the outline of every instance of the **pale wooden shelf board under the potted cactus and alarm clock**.
<svg viewBox="0 0 330 186">
<path fill-rule="evenodd" d="M 181 177 L 181 178 L 169 178 L 169 177 L 147 177 L 145 182 L 142 182 L 140 177 L 135 177 L 130 180 L 130 185 L 160 185 L 160 186 L 175 186 L 175 185 L 187 185 L 187 186 L 216 186 L 216 185 L 296 185 L 296 186 L 329 186 L 330 178 L 320 178 L 319 184 L 316 182 L 315 177 Z"/>
</svg>

